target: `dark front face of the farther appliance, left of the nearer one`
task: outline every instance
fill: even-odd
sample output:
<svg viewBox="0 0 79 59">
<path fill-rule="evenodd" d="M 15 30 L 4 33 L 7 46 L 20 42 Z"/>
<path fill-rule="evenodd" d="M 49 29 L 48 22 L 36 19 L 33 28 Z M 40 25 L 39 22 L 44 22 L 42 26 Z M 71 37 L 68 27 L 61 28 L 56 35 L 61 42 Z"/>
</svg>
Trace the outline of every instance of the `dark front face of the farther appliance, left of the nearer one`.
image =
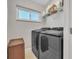
<svg viewBox="0 0 79 59">
<path fill-rule="evenodd" d="M 38 57 L 38 40 L 39 33 L 32 31 L 32 51 L 36 57 Z"/>
</svg>

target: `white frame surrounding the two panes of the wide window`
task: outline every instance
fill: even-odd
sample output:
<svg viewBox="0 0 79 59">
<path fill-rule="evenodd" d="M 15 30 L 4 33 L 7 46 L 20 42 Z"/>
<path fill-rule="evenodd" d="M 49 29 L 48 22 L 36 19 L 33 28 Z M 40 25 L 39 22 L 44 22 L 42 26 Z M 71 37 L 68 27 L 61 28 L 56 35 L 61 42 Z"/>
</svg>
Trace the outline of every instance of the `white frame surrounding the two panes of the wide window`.
<svg viewBox="0 0 79 59">
<path fill-rule="evenodd" d="M 30 15 L 29 15 L 29 19 L 20 19 L 18 16 L 19 16 L 19 9 L 23 9 L 23 10 L 25 10 L 25 11 L 28 11 L 29 13 L 30 13 Z M 31 12 L 36 12 L 36 13 L 38 13 L 38 14 L 40 14 L 39 15 L 39 19 L 38 19 L 38 21 L 33 21 L 32 19 L 31 19 Z M 37 10 L 33 10 L 33 9 L 30 9 L 30 8 L 26 8 L 26 7 L 22 7 L 22 6 L 19 6 L 19 5 L 16 5 L 16 21 L 24 21 L 24 22 L 41 22 L 42 20 L 41 20 L 41 12 L 40 11 L 37 11 Z"/>
</svg>

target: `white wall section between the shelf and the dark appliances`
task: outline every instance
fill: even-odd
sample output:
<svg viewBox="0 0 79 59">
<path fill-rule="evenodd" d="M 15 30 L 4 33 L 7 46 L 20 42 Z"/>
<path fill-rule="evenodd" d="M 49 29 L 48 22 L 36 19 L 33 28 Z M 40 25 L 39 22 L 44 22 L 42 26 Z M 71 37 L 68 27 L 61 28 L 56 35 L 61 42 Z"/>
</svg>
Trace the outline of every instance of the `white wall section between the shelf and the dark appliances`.
<svg viewBox="0 0 79 59">
<path fill-rule="evenodd" d="M 46 20 L 47 27 L 63 27 L 64 26 L 64 14 L 59 12 L 47 17 Z"/>
</svg>

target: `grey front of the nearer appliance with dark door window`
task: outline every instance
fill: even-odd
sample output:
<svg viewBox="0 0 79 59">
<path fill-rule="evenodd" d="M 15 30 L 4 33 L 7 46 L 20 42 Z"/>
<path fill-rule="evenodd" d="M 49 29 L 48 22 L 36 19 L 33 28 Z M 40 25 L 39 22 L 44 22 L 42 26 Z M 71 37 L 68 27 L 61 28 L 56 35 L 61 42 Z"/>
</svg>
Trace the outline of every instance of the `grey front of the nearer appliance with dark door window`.
<svg viewBox="0 0 79 59">
<path fill-rule="evenodd" d="M 63 59 L 63 39 L 40 34 L 39 59 Z"/>
</svg>

